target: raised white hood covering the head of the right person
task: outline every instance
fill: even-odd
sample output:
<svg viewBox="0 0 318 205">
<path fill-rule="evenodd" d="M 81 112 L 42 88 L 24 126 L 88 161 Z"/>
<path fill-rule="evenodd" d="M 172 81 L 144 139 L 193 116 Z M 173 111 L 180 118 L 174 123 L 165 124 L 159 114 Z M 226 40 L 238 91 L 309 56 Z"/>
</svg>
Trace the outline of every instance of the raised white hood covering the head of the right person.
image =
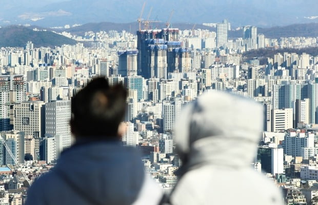
<svg viewBox="0 0 318 205">
<path fill-rule="evenodd" d="M 263 130 L 261 104 L 227 92 L 202 94 L 185 106 L 174 141 L 186 170 L 205 163 L 249 166 Z"/>
</svg>

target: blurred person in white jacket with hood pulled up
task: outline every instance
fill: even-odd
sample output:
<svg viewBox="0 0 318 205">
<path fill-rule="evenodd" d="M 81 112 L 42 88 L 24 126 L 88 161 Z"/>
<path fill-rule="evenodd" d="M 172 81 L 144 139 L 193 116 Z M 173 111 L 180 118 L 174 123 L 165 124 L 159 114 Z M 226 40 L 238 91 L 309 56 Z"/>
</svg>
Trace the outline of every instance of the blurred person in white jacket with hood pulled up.
<svg viewBox="0 0 318 205">
<path fill-rule="evenodd" d="M 185 106 L 175 124 L 183 165 L 170 203 L 284 204 L 274 182 L 251 166 L 263 120 L 261 104 L 221 91 L 204 93 Z"/>
</svg>

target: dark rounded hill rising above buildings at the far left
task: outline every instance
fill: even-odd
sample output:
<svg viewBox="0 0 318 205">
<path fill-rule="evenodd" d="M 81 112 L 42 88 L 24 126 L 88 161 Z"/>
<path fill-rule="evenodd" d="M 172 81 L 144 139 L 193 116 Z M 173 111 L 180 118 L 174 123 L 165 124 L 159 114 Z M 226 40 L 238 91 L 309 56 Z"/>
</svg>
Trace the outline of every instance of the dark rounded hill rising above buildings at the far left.
<svg viewBox="0 0 318 205">
<path fill-rule="evenodd" d="M 32 41 L 34 47 L 76 44 L 76 40 L 51 31 L 33 31 L 23 26 L 0 28 L 0 47 L 24 47 L 28 41 Z"/>
</svg>

